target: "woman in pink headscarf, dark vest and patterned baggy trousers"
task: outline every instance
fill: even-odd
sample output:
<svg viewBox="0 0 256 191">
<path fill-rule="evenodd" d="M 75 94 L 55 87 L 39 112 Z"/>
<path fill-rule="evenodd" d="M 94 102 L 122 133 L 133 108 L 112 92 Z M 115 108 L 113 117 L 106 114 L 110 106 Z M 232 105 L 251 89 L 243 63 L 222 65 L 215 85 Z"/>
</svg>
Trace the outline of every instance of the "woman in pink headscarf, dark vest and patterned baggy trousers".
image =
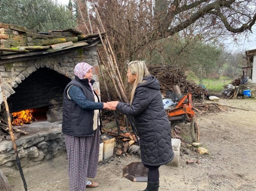
<svg viewBox="0 0 256 191">
<path fill-rule="evenodd" d="M 65 134 L 68 155 L 69 191 L 84 191 L 86 187 L 96 187 L 100 144 L 100 110 L 110 108 L 99 102 L 93 90 L 93 67 L 85 62 L 74 68 L 75 79 L 63 93 L 62 132 Z"/>
</svg>

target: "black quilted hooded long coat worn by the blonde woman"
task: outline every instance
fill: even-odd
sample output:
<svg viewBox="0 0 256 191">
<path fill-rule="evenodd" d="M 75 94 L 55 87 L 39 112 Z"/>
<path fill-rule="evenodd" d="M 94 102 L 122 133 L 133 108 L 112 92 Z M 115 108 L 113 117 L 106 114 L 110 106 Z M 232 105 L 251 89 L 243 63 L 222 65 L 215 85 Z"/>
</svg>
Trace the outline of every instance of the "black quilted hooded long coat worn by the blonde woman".
<svg viewBox="0 0 256 191">
<path fill-rule="evenodd" d="M 134 117 L 140 137 L 142 163 L 160 166 L 169 163 L 174 153 L 171 146 L 171 127 L 166 116 L 160 85 L 156 78 L 148 76 L 135 90 L 133 104 L 118 103 L 116 109 Z"/>
</svg>

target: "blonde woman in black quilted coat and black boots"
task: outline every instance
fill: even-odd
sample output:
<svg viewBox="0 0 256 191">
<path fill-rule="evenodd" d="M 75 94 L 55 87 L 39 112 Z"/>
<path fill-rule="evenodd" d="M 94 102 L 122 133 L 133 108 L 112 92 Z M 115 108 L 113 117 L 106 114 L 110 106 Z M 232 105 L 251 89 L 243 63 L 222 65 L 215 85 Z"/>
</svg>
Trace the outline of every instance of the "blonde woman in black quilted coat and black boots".
<svg viewBox="0 0 256 191">
<path fill-rule="evenodd" d="M 144 191 L 158 191 L 158 168 L 174 157 L 171 127 L 164 110 L 159 81 L 150 75 L 144 61 L 130 62 L 127 78 L 128 83 L 133 84 L 130 104 L 119 101 L 108 104 L 134 117 L 140 137 L 141 162 L 148 168 L 147 188 Z"/>
</svg>

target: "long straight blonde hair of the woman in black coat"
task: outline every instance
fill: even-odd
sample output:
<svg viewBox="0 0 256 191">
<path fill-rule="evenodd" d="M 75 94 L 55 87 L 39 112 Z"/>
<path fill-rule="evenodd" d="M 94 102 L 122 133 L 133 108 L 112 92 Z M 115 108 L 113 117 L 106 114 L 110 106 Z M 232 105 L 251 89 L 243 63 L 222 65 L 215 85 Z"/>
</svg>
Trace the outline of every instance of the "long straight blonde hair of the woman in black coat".
<svg viewBox="0 0 256 191">
<path fill-rule="evenodd" d="M 130 69 L 132 74 L 137 74 L 137 78 L 134 81 L 131 98 L 130 98 L 130 105 L 132 105 L 136 87 L 138 86 L 139 83 L 143 83 L 142 81 L 143 77 L 150 75 L 150 73 L 148 72 L 147 66 L 144 61 L 138 61 L 138 60 L 132 61 L 128 64 L 128 68 Z"/>
</svg>

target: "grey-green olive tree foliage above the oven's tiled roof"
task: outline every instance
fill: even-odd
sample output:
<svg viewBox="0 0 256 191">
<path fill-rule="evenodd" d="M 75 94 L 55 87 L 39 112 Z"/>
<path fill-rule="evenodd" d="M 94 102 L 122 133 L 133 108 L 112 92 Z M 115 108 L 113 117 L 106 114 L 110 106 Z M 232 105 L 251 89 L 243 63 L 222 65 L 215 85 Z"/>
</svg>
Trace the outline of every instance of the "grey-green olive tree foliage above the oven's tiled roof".
<svg viewBox="0 0 256 191">
<path fill-rule="evenodd" d="M 0 22 L 38 32 L 75 28 L 74 15 L 53 0 L 1 0 Z"/>
</svg>

